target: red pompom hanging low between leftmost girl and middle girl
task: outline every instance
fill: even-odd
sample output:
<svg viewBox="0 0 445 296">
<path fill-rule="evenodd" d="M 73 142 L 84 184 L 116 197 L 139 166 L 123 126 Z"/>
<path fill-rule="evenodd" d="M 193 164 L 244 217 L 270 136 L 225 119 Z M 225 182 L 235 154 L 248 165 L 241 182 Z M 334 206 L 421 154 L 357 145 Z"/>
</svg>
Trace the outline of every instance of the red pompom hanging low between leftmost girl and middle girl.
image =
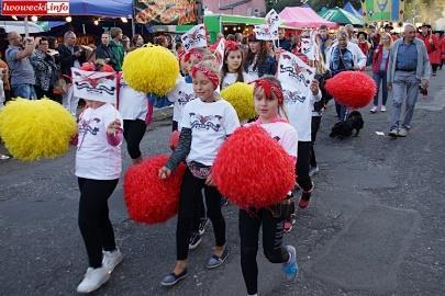
<svg viewBox="0 0 445 296">
<path fill-rule="evenodd" d="M 158 178 L 158 171 L 168 160 L 159 155 L 130 167 L 124 178 L 124 197 L 130 217 L 137 223 L 164 223 L 176 215 L 179 192 L 186 166 L 171 172 L 166 180 Z"/>
</svg>

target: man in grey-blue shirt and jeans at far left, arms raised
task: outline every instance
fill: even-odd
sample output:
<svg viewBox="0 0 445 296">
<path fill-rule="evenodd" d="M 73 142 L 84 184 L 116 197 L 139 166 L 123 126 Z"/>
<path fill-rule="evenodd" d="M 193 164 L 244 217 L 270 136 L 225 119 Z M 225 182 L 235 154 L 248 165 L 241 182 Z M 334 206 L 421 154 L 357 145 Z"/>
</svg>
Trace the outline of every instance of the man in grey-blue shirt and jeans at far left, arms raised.
<svg viewBox="0 0 445 296">
<path fill-rule="evenodd" d="M 36 99 L 34 84 L 35 75 L 30 62 L 36 43 L 29 42 L 21 45 L 22 37 L 16 32 L 8 34 L 9 46 L 5 52 L 7 62 L 11 71 L 12 95 L 23 99 Z"/>
</svg>

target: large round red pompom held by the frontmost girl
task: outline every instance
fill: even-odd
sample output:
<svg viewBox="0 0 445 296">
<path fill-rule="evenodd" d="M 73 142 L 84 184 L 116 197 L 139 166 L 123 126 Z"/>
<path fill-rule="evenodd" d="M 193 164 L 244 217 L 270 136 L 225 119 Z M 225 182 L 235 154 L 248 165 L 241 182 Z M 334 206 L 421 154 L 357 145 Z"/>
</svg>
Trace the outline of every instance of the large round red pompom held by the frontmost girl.
<svg viewBox="0 0 445 296">
<path fill-rule="evenodd" d="M 296 183 L 292 158 L 257 125 L 236 129 L 223 144 L 212 177 L 221 194 L 241 208 L 277 204 Z"/>
</svg>

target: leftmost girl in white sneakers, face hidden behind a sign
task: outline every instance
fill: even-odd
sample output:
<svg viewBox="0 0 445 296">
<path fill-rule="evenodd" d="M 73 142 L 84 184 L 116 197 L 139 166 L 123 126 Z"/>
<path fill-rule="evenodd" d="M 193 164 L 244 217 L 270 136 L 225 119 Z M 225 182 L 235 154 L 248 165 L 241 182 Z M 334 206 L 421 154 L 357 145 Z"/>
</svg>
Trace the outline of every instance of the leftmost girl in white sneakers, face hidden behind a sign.
<svg viewBox="0 0 445 296">
<path fill-rule="evenodd" d="M 101 62 L 85 65 L 82 69 L 113 72 Z M 77 145 L 76 175 L 80 190 L 78 223 L 89 267 L 77 292 L 90 293 L 110 278 L 123 259 L 108 209 L 108 200 L 122 171 L 122 117 L 110 103 L 84 100 L 86 109 L 79 115 L 78 136 L 73 144 Z"/>
</svg>

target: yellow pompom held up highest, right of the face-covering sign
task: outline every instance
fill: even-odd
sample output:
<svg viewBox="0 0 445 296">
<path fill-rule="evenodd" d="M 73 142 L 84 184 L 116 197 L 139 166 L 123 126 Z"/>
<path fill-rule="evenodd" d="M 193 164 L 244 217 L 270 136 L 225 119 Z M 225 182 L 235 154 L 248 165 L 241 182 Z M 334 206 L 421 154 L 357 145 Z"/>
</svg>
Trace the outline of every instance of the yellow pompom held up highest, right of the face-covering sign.
<svg viewBox="0 0 445 296">
<path fill-rule="evenodd" d="M 167 48 L 147 45 L 125 57 L 122 72 L 132 89 L 163 96 L 176 87 L 179 62 Z"/>
</svg>

